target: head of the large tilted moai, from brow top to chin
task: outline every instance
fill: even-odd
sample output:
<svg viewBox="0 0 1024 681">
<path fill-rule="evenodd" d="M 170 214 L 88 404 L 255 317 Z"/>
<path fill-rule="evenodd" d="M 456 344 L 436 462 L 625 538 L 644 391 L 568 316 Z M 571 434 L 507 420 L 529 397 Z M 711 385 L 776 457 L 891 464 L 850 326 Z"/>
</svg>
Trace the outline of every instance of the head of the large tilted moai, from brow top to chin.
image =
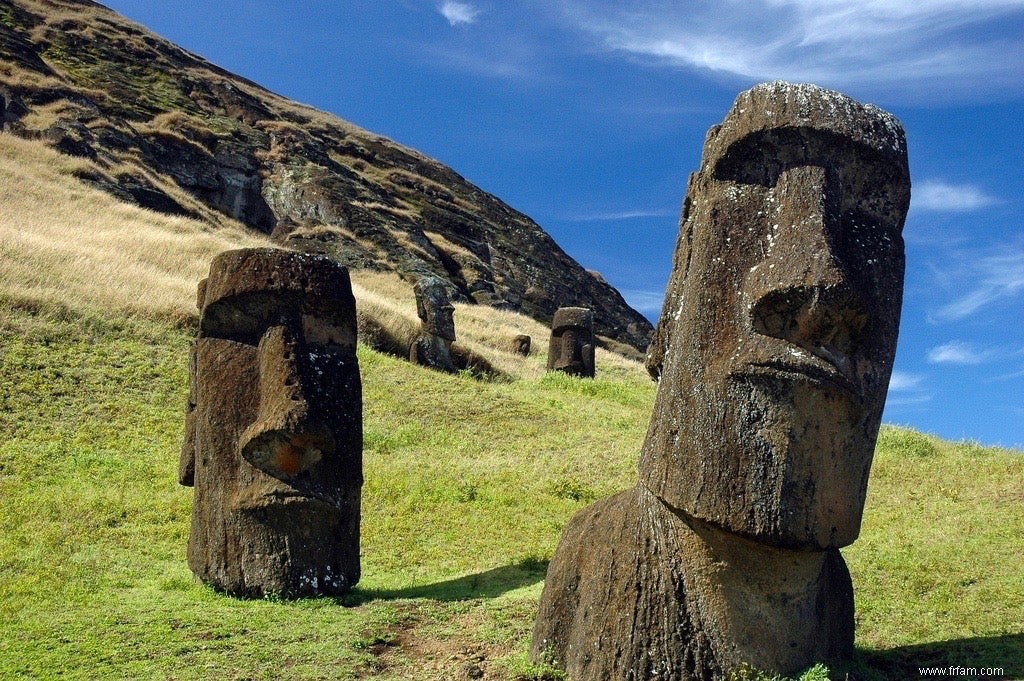
<svg viewBox="0 0 1024 681">
<path fill-rule="evenodd" d="M 860 529 L 910 199 L 903 129 L 813 85 L 741 93 L 690 178 L 649 364 L 641 479 L 767 544 Z"/>
</svg>

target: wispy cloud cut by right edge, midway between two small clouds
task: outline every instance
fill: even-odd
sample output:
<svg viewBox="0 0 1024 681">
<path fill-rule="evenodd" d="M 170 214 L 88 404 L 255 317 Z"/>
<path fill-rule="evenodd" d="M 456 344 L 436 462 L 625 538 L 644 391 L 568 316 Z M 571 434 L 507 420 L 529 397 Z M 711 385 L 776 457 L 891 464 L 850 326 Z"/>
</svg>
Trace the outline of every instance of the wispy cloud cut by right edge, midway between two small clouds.
<svg viewBox="0 0 1024 681">
<path fill-rule="evenodd" d="M 939 308 L 933 317 L 955 322 L 989 305 L 1024 297 L 1024 246 L 1008 247 L 1002 252 L 970 260 L 957 278 L 970 282 L 967 291 Z"/>
</svg>

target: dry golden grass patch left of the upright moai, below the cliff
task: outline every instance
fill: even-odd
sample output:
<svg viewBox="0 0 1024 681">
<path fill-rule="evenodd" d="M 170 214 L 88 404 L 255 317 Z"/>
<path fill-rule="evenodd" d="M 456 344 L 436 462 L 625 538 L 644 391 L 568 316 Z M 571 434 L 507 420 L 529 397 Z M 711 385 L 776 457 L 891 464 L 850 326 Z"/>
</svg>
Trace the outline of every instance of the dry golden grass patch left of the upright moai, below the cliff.
<svg viewBox="0 0 1024 681">
<path fill-rule="evenodd" d="M 73 176 L 87 161 L 0 134 L 0 298 L 80 314 L 190 318 L 220 251 L 269 245 L 120 202 Z"/>
</svg>

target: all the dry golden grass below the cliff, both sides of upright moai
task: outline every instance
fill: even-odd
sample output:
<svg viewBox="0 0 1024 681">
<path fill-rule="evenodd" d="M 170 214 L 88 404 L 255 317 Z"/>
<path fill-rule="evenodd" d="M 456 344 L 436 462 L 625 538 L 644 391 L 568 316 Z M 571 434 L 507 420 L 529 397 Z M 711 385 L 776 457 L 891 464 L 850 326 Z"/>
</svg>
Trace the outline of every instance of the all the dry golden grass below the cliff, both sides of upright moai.
<svg viewBox="0 0 1024 681">
<path fill-rule="evenodd" d="M 0 301 L 83 315 L 194 320 L 196 284 L 213 256 L 232 248 L 276 245 L 239 223 L 213 228 L 125 204 L 75 177 L 99 172 L 89 161 L 57 154 L 41 142 L 0 134 Z M 420 329 L 412 284 L 393 272 L 371 270 L 353 271 L 352 283 L 360 336 L 403 355 Z M 545 372 L 550 331 L 539 322 L 459 303 L 456 331 L 456 352 L 474 366 L 482 359 L 518 379 Z M 532 339 L 529 356 L 512 351 L 518 334 Z M 646 380 L 638 363 L 618 354 L 598 349 L 597 361 L 601 376 Z"/>
</svg>

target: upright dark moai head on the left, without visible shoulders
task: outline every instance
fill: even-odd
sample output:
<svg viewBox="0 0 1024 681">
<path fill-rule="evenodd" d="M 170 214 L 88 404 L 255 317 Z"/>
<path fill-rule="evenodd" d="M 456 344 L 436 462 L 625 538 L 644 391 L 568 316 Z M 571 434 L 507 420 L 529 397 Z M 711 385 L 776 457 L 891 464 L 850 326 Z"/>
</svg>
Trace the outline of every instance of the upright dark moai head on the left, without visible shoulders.
<svg viewBox="0 0 1024 681">
<path fill-rule="evenodd" d="M 189 567 L 241 596 L 348 591 L 362 485 L 348 270 L 318 255 L 228 251 L 199 307 L 179 469 L 196 488 Z"/>
</svg>

